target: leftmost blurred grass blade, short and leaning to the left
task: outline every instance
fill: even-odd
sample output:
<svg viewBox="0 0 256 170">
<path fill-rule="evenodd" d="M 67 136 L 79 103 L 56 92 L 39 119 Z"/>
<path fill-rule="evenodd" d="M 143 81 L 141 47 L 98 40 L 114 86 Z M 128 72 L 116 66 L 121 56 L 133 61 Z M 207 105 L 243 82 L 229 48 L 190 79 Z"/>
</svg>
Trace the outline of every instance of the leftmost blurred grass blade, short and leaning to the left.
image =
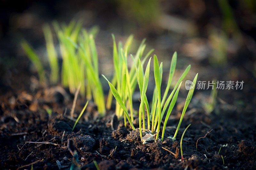
<svg viewBox="0 0 256 170">
<path fill-rule="evenodd" d="M 28 55 L 28 58 L 36 66 L 36 70 L 38 72 L 40 83 L 45 84 L 46 78 L 45 78 L 45 73 L 44 73 L 44 67 L 43 67 L 43 64 L 41 63 L 39 57 L 36 55 L 34 50 L 30 47 L 30 45 L 25 40 L 21 42 L 21 47 Z"/>
</svg>

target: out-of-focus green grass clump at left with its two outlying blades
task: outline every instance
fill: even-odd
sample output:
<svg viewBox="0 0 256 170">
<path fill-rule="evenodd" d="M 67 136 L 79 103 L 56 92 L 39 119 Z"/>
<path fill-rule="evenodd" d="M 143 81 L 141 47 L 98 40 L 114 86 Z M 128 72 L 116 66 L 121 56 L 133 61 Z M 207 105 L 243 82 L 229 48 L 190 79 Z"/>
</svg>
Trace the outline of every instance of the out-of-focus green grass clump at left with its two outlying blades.
<svg viewBox="0 0 256 170">
<path fill-rule="evenodd" d="M 71 93 L 75 93 L 81 83 L 80 94 L 86 96 L 88 100 L 93 98 L 99 113 L 104 115 L 106 110 L 104 94 L 98 75 L 98 54 L 94 42 L 98 27 L 94 26 L 86 31 L 82 28 L 82 22 L 75 20 L 68 25 L 53 22 L 53 27 L 59 41 L 62 65 L 59 66 L 58 63 L 57 48 L 54 46 L 51 27 L 44 25 L 47 56 L 51 68 L 50 82 L 58 83 L 61 68 L 61 84 L 68 87 Z M 22 41 L 21 46 L 36 66 L 40 83 L 46 84 L 47 78 L 40 57 L 27 41 Z"/>
</svg>

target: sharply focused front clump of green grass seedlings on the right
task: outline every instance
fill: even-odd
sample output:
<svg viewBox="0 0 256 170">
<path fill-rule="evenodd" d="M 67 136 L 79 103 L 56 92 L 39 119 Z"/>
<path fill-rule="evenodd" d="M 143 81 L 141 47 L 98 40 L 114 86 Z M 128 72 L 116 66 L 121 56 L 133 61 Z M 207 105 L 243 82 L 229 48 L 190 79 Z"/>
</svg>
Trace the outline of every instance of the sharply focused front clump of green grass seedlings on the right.
<svg viewBox="0 0 256 170">
<path fill-rule="evenodd" d="M 123 50 L 122 50 L 123 51 Z M 123 52 L 124 55 L 124 52 Z M 154 134 L 156 133 L 156 138 L 158 138 L 159 136 L 159 131 L 160 131 L 160 124 L 161 121 L 164 117 L 165 111 L 168 107 L 167 113 L 166 113 L 166 117 L 164 120 L 164 127 L 163 127 L 163 132 L 162 132 L 162 138 L 161 140 L 164 140 L 164 131 L 165 131 L 165 127 L 167 124 L 167 120 L 172 112 L 172 109 L 176 103 L 177 97 L 178 97 L 178 93 L 180 90 L 180 86 L 182 83 L 182 80 L 185 78 L 185 76 L 187 75 L 189 69 L 190 69 L 190 65 L 187 67 L 187 69 L 183 72 L 183 74 L 181 75 L 180 79 L 178 80 L 178 82 L 176 83 L 174 89 L 172 90 L 172 92 L 169 94 L 168 98 L 167 94 L 171 85 L 171 81 L 172 81 L 172 77 L 175 71 L 175 67 L 176 67 L 176 61 L 177 61 L 177 53 L 175 52 L 172 56 L 172 63 L 171 63 L 171 67 L 170 67 L 170 74 L 169 74 L 169 80 L 167 83 L 167 86 L 165 88 L 164 91 L 164 96 L 161 99 L 161 84 L 162 84 L 162 73 L 163 73 L 163 63 L 160 64 L 158 63 L 158 59 L 157 56 L 154 55 L 154 77 L 155 77 L 155 90 L 153 93 L 153 101 L 151 103 L 151 111 L 149 111 L 149 104 L 148 104 L 148 98 L 146 96 L 146 91 L 147 91 L 147 87 L 148 87 L 148 79 L 149 79 L 149 70 L 150 70 L 150 62 L 151 62 L 151 58 L 148 60 L 148 64 L 146 67 L 145 72 L 143 71 L 143 63 L 144 60 L 141 62 L 140 58 L 136 58 L 134 59 L 133 56 L 131 55 L 132 60 L 134 62 L 135 65 L 135 71 L 136 71 L 136 77 L 137 77 L 137 83 L 139 85 L 140 88 L 140 108 L 139 108 L 139 128 L 140 128 L 140 138 L 142 138 L 142 130 L 145 132 L 146 130 L 146 116 L 145 116 L 145 111 L 147 112 L 147 124 L 148 127 L 147 129 L 151 129 L 151 133 Z M 125 60 L 126 61 L 126 60 Z M 127 63 L 124 63 L 124 68 L 126 67 Z M 127 67 L 126 67 L 127 68 Z M 127 83 L 127 81 L 129 82 L 129 79 L 127 80 L 127 74 L 129 75 L 128 71 L 123 71 L 123 76 L 120 80 L 120 85 L 123 89 L 121 90 L 121 93 L 118 92 L 115 88 L 115 86 L 108 81 L 108 79 L 102 75 L 109 84 L 110 90 L 113 93 L 113 96 L 115 97 L 116 101 L 118 102 L 118 104 L 120 105 L 120 107 L 123 109 L 124 111 L 124 115 L 127 117 L 132 129 L 135 129 L 133 124 L 132 124 L 132 119 L 130 117 L 130 115 L 128 114 L 128 109 L 127 109 L 127 105 L 125 105 L 126 103 L 126 98 L 123 97 L 125 96 L 125 94 L 129 91 L 131 91 L 131 89 L 129 88 L 129 85 Z M 195 76 L 193 83 L 190 87 L 190 90 L 188 92 L 188 96 L 180 117 L 180 122 L 178 124 L 177 130 L 173 136 L 173 141 L 175 140 L 175 137 L 178 134 L 178 130 L 180 128 L 180 124 L 182 122 L 183 116 L 185 115 L 185 112 L 188 108 L 188 104 L 192 98 L 194 89 L 195 89 L 195 84 L 196 84 L 196 79 L 197 79 L 197 75 Z M 171 103 L 170 103 L 171 102 Z M 125 122 L 124 118 L 124 122 Z M 142 119 L 142 121 L 141 121 Z M 143 127 L 142 127 L 142 123 L 143 123 Z M 150 128 L 151 125 L 151 128 Z"/>
</svg>

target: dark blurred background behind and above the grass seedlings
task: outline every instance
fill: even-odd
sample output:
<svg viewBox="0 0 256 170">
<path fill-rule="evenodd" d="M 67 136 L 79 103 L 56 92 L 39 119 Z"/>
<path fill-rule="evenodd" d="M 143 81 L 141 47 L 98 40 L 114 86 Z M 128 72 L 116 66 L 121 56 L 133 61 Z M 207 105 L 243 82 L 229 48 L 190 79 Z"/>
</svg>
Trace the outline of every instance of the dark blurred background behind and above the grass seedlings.
<svg viewBox="0 0 256 170">
<path fill-rule="evenodd" d="M 256 103 L 256 1 L 255 0 L 51 0 L 0 1 L 0 93 L 30 89 L 36 75 L 20 47 L 26 39 L 40 56 L 46 56 L 42 26 L 52 21 L 82 20 L 83 27 L 98 26 L 95 42 L 100 73 L 113 74 L 112 37 L 125 41 L 134 35 L 136 52 L 146 38 L 147 48 L 163 61 L 168 73 L 177 51 L 178 79 L 188 64 L 187 79 L 244 81 L 242 90 L 219 90 L 216 113 L 255 114 Z M 57 43 L 57 37 L 54 37 Z M 164 75 L 167 81 L 168 74 Z M 153 74 L 151 74 L 154 83 Z M 106 82 L 105 82 L 106 83 Z M 104 87 L 108 90 L 108 86 Z M 187 93 L 182 86 L 184 94 Z M 31 89 L 30 89 L 31 90 Z M 196 90 L 194 105 L 211 98 L 211 90 Z M 202 107 L 203 108 L 203 107 Z M 231 115 L 230 115 L 231 116 Z M 252 120 L 251 120 L 252 121 Z M 253 120 L 255 121 L 255 120 Z"/>
</svg>

